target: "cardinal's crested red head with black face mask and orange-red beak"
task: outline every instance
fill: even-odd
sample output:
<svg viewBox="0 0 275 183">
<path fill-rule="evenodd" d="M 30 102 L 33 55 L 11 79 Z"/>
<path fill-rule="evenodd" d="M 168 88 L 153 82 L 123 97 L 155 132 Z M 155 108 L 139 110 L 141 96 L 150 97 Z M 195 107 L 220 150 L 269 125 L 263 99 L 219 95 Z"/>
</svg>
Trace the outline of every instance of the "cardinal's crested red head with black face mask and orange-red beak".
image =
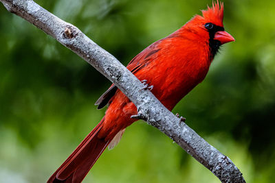
<svg viewBox="0 0 275 183">
<path fill-rule="evenodd" d="M 209 42 L 213 53 L 217 53 L 219 47 L 226 42 L 234 41 L 234 38 L 225 32 L 223 27 L 223 3 L 212 3 L 212 8 L 202 10 L 202 15 L 196 15 L 184 27 L 201 40 Z"/>
</svg>

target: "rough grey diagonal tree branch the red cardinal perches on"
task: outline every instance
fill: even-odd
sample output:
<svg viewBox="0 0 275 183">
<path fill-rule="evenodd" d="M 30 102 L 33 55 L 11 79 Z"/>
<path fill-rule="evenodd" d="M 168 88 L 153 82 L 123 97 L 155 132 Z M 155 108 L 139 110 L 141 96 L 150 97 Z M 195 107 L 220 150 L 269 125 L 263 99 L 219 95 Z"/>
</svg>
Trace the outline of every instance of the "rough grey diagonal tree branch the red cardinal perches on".
<svg viewBox="0 0 275 183">
<path fill-rule="evenodd" d="M 0 0 L 5 8 L 50 34 L 113 82 L 135 103 L 139 118 L 157 127 L 221 182 L 245 182 L 227 156 L 212 147 L 186 123 L 167 110 L 144 85 L 110 53 L 96 45 L 77 27 L 54 16 L 32 0 Z"/>
</svg>

